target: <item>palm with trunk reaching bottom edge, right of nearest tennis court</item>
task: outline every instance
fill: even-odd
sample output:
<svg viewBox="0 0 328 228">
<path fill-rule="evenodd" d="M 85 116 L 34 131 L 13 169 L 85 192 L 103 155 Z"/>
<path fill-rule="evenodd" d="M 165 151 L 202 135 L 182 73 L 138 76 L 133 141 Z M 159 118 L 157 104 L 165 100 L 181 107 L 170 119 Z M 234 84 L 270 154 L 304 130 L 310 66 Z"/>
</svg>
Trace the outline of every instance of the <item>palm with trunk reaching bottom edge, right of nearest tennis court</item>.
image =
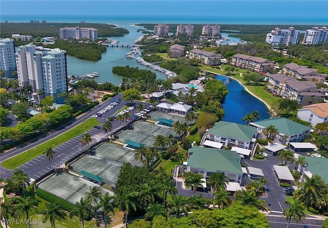
<svg viewBox="0 0 328 228">
<path fill-rule="evenodd" d="M 128 215 L 131 210 L 137 210 L 137 204 L 134 200 L 135 194 L 123 192 L 121 195 L 115 195 L 114 202 L 118 208 L 125 213 L 125 228 L 128 228 Z"/>
</svg>

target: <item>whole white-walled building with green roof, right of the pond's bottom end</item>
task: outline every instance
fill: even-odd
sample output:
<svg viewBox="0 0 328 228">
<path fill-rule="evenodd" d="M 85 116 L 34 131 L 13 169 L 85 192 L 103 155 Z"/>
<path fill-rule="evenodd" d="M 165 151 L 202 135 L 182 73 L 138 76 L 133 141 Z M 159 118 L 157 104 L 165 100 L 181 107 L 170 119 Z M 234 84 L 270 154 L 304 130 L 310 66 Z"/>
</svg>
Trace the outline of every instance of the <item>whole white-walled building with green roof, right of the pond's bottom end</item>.
<svg viewBox="0 0 328 228">
<path fill-rule="evenodd" d="M 310 134 L 311 130 L 311 127 L 282 117 L 250 123 L 250 126 L 256 128 L 259 133 L 270 125 L 273 125 L 277 129 L 278 133 L 276 139 L 282 144 L 288 144 L 289 142 L 302 142 L 306 138 L 306 135 Z"/>
</svg>

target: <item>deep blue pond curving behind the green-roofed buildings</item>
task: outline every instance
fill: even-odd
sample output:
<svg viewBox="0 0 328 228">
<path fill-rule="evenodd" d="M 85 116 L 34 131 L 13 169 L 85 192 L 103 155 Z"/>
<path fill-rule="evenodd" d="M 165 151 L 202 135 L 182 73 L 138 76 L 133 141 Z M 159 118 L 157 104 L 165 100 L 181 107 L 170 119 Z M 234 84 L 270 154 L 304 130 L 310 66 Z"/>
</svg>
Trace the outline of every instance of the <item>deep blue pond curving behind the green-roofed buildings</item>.
<svg viewBox="0 0 328 228">
<path fill-rule="evenodd" d="M 246 121 L 241 119 L 254 110 L 259 112 L 260 120 L 270 118 L 268 107 L 262 101 L 250 95 L 238 81 L 222 75 L 217 75 L 216 79 L 226 84 L 229 90 L 226 102 L 222 104 L 225 112 L 223 121 L 246 124 Z"/>
</svg>

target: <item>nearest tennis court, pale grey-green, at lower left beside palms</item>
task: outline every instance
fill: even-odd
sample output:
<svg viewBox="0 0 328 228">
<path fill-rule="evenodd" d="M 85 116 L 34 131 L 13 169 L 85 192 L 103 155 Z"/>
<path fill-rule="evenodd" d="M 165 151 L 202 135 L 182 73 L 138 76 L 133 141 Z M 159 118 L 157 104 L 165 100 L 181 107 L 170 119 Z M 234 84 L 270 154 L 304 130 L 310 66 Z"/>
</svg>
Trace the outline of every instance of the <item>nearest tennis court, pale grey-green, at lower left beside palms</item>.
<svg viewBox="0 0 328 228">
<path fill-rule="evenodd" d="M 90 187 L 98 186 L 83 178 L 78 178 L 66 172 L 59 172 L 46 179 L 38 185 L 38 188 L 75 204 L 80 201 L 81 197 L 86 197 L 86 193 L 90 191 Z M 114 195 L 113 192 L 100 188 L 101 193 L 108 192 Z"/>
</svg>

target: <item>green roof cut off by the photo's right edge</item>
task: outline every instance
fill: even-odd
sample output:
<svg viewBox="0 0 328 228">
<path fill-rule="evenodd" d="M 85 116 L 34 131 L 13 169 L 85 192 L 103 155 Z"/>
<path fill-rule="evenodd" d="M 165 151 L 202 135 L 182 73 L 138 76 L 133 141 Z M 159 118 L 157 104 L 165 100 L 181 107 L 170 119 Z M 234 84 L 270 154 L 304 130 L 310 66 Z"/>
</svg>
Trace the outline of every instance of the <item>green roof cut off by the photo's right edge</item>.
<svg viewBox="0 0 328 228">
<path fill-rule="evenodd" d="M 306 170 L 312 174 L 318 174 L 328 184 L 328 158 L 305 156 L 305 161 L 308 163 Z"/>
</svg>

